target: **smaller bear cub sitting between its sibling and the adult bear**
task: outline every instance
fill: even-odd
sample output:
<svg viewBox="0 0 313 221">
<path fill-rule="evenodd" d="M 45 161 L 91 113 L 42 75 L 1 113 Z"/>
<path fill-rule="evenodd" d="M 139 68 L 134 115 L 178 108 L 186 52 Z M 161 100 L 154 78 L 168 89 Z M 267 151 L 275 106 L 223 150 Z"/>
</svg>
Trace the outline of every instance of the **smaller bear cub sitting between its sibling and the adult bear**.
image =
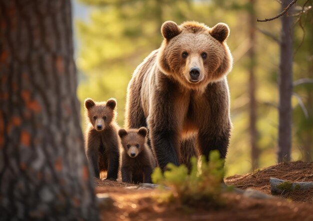
<svg viewBox="0 0 313 221">
<path fill-rule="evenodd" d="M 152 183 L 151 173 L 156 167 L 156 161 L 146 144 L 147 130 L 120 129 L 121 140 L 121 180 L 126 183 Z"/>
</svg>

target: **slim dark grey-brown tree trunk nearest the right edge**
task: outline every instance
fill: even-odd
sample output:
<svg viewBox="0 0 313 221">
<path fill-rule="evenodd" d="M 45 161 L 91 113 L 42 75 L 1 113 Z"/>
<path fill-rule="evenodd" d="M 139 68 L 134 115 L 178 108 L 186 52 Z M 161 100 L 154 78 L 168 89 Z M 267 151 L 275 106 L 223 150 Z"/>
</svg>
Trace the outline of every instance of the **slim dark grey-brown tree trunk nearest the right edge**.
<svg viewBox="0 0 313 221">
<path fill-rule="evenodd" d="M 291 0 L 282 0 L 282 10 Z M 292 16 L 281 16 L 279 61 L 279 128 L 278 162 L 290 160 L 291 149 L 291 94 L 292 94 Z"/>
</svg>

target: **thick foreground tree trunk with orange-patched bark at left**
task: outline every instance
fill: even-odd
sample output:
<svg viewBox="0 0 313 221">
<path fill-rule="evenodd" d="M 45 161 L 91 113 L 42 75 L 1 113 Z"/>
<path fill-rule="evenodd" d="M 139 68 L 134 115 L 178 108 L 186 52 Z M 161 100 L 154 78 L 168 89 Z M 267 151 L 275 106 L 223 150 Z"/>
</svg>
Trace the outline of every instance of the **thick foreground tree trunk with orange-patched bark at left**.
<svg viewBox="0 0 313 221">
<path fill-rule="evenodd" d="M 97 220 L 70 0 L 0 0 L 1 220 Z"/>
</svg>

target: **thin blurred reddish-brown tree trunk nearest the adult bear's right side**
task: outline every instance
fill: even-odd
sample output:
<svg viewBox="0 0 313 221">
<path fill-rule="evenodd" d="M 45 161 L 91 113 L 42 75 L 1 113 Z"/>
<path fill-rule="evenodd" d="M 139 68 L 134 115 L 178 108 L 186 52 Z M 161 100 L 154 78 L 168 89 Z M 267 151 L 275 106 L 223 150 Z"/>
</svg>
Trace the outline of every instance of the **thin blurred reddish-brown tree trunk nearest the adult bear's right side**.
<svg viewBox="0 0 313 221">
<path fill-rule="evenodd" d="M 256 98 L 255 98 L 255 29 L 256 29 L 256 17 L 254 10 L 255 0 L 250 0 L 249 7 L 249 41 L 250 49 L 248 56 L 249 63 L 249 133 L 250 133 L 250 145 L 251 145 L 251 161 L 252 170 L 258 168 L 258 156 L 259 151 L 256 145 L 257 131 L 256 131 Z"/>
</svg>

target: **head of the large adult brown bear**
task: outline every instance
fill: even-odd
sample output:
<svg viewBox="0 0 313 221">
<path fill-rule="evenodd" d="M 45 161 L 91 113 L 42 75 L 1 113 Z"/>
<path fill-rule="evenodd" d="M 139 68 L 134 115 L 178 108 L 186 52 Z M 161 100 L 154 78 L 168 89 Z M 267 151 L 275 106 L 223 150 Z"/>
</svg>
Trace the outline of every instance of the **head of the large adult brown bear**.
<svg viewBox="0 0 313 221">
<path fill-rule="evenodd" d="M 209 28 L 195 21 L 181 25 L 165 21 L 161 33 L 164 40 L 157 55 L 160 70 L 183 86 L 203 89 L 230 72 L 227 24 L 217 23 Z"/>
</svg>

